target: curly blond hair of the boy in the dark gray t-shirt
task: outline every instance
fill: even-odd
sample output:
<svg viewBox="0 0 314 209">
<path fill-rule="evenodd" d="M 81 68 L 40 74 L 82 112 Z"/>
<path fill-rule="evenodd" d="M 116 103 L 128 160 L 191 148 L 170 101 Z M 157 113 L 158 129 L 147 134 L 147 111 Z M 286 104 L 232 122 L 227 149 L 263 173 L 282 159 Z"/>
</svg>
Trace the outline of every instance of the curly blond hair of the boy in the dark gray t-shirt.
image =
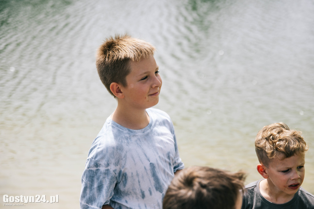
<svg viewBox="0 0 314 209">
<path fill-rule="evenodd" d="M 295 154 L 304 155 L 308 146 L 300 131 L 280 122 L 264 126 L 255 138 L 255 150 L 260 163 L 268 167 L 273 158 L 289 158 Z"/>
</svg>

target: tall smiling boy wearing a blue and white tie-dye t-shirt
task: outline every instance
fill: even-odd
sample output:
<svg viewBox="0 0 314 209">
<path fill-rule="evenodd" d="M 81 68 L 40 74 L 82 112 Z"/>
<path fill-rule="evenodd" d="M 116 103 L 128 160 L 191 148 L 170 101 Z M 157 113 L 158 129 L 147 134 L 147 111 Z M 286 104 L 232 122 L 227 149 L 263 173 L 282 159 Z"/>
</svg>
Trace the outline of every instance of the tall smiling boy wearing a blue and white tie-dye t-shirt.
<svg viewBox="0 0 314 209">
<path fill-rule="evenodd" d="M 161 208 L 184 168 L 169 115 L 151 108 L 162 84 L 154 51 L 127 35 L 106 39 L 97 51 L 100 80 L 118 104 L 89 150 L 81 208 Z"/>
</svg>

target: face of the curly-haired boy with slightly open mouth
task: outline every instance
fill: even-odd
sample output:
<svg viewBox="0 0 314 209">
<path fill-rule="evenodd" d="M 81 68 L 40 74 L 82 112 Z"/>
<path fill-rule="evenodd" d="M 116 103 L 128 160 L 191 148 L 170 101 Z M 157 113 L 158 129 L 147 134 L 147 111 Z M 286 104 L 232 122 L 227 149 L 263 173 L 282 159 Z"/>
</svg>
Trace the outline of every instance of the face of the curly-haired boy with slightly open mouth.
<svg viewBox="0 0 314 209">
<path fill-rule="evenodd" d="M 300 154 L 282 160 L 272 159 L 265 168 L 270 189 L 287 195 L 295 194 L 304 179 L 304 163 L 304 155 Z"/>
</svg>

